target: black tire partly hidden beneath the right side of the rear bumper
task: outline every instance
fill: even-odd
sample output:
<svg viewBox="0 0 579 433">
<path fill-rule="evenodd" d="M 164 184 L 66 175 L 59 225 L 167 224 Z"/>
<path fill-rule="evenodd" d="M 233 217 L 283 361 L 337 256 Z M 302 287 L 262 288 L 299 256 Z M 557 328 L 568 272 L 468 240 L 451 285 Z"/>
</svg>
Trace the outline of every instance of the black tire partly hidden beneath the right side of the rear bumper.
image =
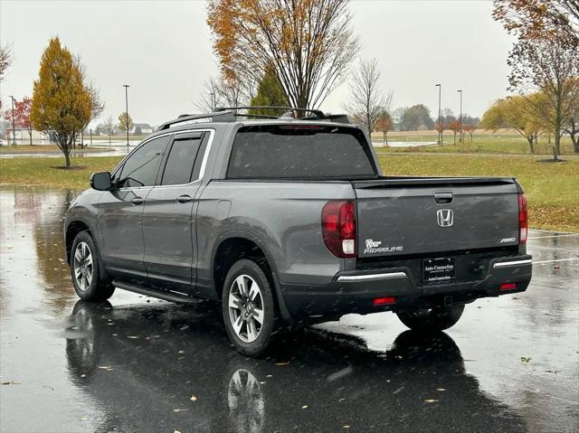
<svg viewBox="0 0 579 433">
<path fill-rule="evenodd" d="M 434 333 L 455 325 L 464 311 L 464 304 L 437 306 L 432 309 L 416 309 L 396 313 L 400 321 L 413 331 Z"/>
</svg>

